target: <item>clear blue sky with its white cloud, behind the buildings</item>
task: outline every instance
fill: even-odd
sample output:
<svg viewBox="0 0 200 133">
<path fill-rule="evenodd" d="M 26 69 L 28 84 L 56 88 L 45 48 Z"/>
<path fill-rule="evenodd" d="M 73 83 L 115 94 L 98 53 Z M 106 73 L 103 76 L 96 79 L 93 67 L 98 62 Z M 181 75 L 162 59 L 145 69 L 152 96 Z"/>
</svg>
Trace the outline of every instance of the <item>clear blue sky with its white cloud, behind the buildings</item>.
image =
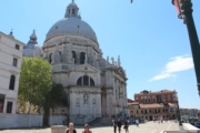
<svg viewBox="0 0 200 133">
<path fill-rule="evenodd" d="M 48 30 L 62 19 L 71 0 L 3 0 L 0 31 L 13 29 L 27 43 L 36 29 L 42 47 Z M 200 34 L 200 0 L 193 19 Z M 76 0 L 82 20 L 96 31 L 103 57 L 121 57 L 128 98 L 142 90 L 176 90 L 181 108 L 200 109 L 188 31 L 171 0 Z"/>
</svg>

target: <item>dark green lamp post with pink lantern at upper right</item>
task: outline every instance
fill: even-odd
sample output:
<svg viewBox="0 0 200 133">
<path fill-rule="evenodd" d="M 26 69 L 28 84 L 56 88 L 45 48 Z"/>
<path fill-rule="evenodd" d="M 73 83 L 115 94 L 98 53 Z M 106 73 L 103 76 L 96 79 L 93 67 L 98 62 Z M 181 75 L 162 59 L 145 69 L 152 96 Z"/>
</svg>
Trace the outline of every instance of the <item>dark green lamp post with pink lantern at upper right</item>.
<svg viewBox="0 0 200 133">
<path fill-rule="evenodd" d="M 190 39 L 191 52 L 193 57 L 194 71 L 198 82 L 198 91 L 200 95 L 200 45 L 199 39 L 192 17 L 192 3 L 191 0 L 172 0 L 172 4 L 176 7 L 178 18 L 183 19 L 188 28 L 188 34 Z"/>
</svg>

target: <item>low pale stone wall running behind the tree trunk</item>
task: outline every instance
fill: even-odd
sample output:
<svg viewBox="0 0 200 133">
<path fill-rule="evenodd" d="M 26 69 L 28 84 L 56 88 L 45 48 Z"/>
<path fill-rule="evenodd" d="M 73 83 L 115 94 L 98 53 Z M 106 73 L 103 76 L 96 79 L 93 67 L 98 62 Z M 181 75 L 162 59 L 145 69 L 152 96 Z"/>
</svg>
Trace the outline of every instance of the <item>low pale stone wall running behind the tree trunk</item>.
<svg viewBox="0 0 200 133">
<path fill-rule="evenodd" d="M 50 125 L 62 125 L 66 120 L 66 115 L 50 115 Z M 42 115 L 0 113 L 0 129 L 36 126 L 42 126 Z"/>
</svg>

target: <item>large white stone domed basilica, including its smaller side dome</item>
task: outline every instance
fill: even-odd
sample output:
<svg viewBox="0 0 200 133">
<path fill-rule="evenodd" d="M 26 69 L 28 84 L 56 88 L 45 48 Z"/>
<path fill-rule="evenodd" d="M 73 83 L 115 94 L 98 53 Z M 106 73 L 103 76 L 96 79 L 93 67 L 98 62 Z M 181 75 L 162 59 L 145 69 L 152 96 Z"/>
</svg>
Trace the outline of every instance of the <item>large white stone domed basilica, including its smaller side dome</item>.
<svg viewBox="0 0 200 133">
<path fill-rule="evenodd" d="M 42 57 L 51 63 L 52 80 L 68 94 L 69 108 L 59 108 L 58 113 L 66 112 L 71 122 L 128 113 L 128 79 L 120 55 L 116 60 L 102 58 L 96 32 L 81 19 L 74 1 L 67 7 L 64 18 L 50 28 L 42 48 L 33 31 L 23 57 Z"/>
</svg>

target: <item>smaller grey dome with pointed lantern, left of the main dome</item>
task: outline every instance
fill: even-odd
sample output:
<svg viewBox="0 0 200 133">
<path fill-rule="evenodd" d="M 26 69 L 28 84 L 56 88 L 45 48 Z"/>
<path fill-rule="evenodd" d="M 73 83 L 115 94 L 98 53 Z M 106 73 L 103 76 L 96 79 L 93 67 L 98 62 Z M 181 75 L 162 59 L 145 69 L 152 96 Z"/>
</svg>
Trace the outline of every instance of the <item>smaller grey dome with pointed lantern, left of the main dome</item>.
<svg viewBox="0 0 200 133">
<path fill-rule="evenodd" d="M 36 31 L 33 30 L 33 33 L 31 34 L 29 42 L 23 49 L 23 57 L 33 58 L 40 55 L 41 55 L 41 48 L 37 42 Z"/>
</svg>

